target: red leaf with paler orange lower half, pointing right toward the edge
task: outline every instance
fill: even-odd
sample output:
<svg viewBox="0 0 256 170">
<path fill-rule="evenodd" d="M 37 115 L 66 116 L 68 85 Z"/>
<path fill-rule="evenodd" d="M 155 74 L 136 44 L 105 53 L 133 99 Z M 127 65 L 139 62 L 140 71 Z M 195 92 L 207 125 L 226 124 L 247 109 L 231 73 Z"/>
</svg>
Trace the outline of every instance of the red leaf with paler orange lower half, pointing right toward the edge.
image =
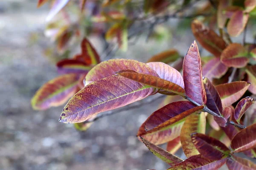
<svg viewBox="0 0 256 170">
<path fill-rule="evenodd" d="M 239 100 L 248 89 L 250 83 L 244 81 L 216 85 L 215 88 L 221 97 L 222 107 L 232 105 Z"/>
</svg>

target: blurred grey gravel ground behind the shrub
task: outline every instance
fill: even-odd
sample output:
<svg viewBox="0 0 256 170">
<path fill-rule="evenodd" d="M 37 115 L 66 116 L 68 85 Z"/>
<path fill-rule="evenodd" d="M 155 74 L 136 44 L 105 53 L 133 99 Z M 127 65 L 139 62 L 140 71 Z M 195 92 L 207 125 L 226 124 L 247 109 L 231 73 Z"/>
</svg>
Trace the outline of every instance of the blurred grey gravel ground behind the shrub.
<svg viewBox="0 0 256 170">
<path fill-rule="evenodd" d="M 0 1 L 0 170 L 166 169 L 168 165 L 136 137 L 160 101 L 105 117 L 85 133 L 58 122 L 63 106 L 32 110 L 35 91 L 57 75 L 43 56 L 49 44 L 42 32 L 47 11 L 47 6 L 37 9 L 36 0 Z M 39 33 L 40 43 L 29 41 L 33 32 Z M 193 38 L 185 34 L 183 40 L 186 45 L 177 41 L 173 45 L 185 54 Z M 172 47 L 170 42 L 156 46 L 139 41 L 117 57 L 146 61 L 151 54 Z"/>
</svg>

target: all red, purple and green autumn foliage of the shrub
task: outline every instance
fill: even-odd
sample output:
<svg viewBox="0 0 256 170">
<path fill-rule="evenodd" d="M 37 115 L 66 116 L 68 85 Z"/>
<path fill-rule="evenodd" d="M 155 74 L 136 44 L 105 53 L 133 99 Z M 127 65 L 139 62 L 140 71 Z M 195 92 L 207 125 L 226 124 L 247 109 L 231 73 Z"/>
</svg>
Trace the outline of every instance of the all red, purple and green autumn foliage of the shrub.
<svg viewBox="0 0 256 170">
<path fill-rule="evenodd" d="M 39 0 L 38 6 L 46 1 Z M 177 50 L 169 49 L 154 55 L 147 63 L 133 59 L 100 62 L 99 54 L 84 38 L 81 54 L 56 64 L 62 75 L 36 92 L 32 107 L 44 110 L 61 105 L 71 97 L 59 121 L 75 123 L 78 130 L 87 130 L 92 122 L 104 116 L 99 113 L 157 93 L 164 94 L 167 97 L 161 107 L 145 120 L 137 136 L 155 156 L 171 166 L 169 170 L 215 170 L 224 164 L 230 170 L 256 169 L 253 162 L 234 155 L 243 152 L 256 158 L 256 113 L 247 114 L 247 109 L 256 100 L 253 98 L 256 94 L 256 45 L 246 43 L 245 36 L 241 44 L 231 40 L 242 32 L 246 35 L 248 20 L 255 16 L 256 1 L 210 2 L 210 7 L 215 7 L 211 17 L 216 19 L 220 35 L 204 25 L 207 17 L 204 21 L 193 20 L 191 29 L 197 42 L 214 57 L 201 57 L 194 41 L 185 57 L 180 57 Z M 67 3 L 68 0 L 54 1 L 47 19 Z M 89 2 L 81 0 L 80 3 L 81 10 L 85 11 Z M 184 8 L 191 3 L 185 0 L 181 6 Z M 106 41 L 115 40 L 124 51 L 138 18 L 131 17 L 134 11 L 130 16 L 122 9 L 134 4 L 132 0 L 107 0 L 100 8 L 109 10 L 90 16 L 93 22 L 110 24 L 105 31 Z M 171 6 L 168 0 L 145 0 L 145 16 L 139 20 L 147 20 L 148 15 L 157 18 L 158 14 L 169 10 L 168 6 Z M 112 11 L 111 7 L 118 11 Z M 177 13 L 161 16 L 161 19 L 164 22 L 170 16 L 176 17 Z M 192 18 L 195 17 L 198 15 Z M 151 26 L 158 24 L 159 17 L 156 20 Z M 58 39 L 58 48 L 64 49 L 71 34 L 78 30 L 77 23 L 58 28 L 54 36 Z M 168 65 L 170 62 L 172 67 Z M 166 150 L 157 146 L 163 143 L 168 143 Z M 174 155 L 180 147 L 187 157 L 185 160 Z"/>
</svg>

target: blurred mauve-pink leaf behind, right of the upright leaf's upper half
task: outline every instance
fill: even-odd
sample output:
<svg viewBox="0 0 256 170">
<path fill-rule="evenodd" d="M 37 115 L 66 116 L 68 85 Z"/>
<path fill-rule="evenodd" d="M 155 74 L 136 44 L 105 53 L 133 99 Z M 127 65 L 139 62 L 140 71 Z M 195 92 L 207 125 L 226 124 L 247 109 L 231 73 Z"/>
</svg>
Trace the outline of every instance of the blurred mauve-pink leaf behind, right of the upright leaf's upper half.
<svg viewBox="0 0 256 170">
<path fill-rule="evenodd" d="M 228 67 L 221 63 L 220 58 L 213 58 L 203 66 L 203 76 L 209 80 L 221 78 L 227 73 Z"/>
</svg>

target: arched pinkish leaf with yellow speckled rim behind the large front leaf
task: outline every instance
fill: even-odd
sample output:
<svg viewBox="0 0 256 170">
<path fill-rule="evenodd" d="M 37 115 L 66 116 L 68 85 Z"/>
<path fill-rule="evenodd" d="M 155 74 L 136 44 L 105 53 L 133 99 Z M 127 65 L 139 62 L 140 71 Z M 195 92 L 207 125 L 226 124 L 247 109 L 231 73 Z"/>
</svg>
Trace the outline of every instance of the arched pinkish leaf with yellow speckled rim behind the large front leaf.
<svg viewBox="0 0 256 170">
<path fill-rule="evenodd" d="M 86 75 L 84 84 L 88 85 L 93 81 L 114 75 L 121 70 L 133 70 L 159 77 L 150 66 L 143 62 L 138 62 L 133 59 L 110 59 L 94 66 Z"/>
</svg>

